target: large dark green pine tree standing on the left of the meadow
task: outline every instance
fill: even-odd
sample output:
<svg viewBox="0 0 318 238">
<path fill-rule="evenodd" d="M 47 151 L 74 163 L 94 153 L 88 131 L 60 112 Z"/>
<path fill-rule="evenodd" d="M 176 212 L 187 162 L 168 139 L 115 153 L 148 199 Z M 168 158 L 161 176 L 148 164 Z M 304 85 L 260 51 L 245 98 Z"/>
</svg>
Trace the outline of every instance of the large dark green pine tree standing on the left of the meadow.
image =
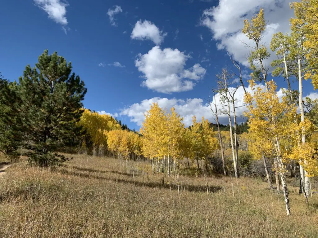
<svg viewBox="0 0 318 238">
<path fill-rule="evenodd" d="M 25 67 L 15 90 L 3 95 L 4 104 L 11 110 L 6 121 L 30 161 L 47 165 L 67 159 L 54 151 L 74 135 L 87 91 L 84 82 L 71 71 L 71 63 L 63 56 L 57 52 L 49 55 L 45 50 L 33 69 Z"/>
</svg>

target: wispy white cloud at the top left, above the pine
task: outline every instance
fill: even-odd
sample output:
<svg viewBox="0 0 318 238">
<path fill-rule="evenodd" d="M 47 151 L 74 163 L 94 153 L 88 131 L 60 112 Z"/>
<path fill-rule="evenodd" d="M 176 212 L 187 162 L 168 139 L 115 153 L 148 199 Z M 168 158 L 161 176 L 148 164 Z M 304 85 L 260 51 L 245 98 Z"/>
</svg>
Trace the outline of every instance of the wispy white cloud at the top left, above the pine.
<svg viewBox="0 0 318 238">
<path fill-rule="evenodd" d="M 67 25 L 66 7 L 68 4 L 61 0 L 33 0 L 34 3 L 44 10 L 49 18 L 53 19 L 56 23 Z"/>
</svg>

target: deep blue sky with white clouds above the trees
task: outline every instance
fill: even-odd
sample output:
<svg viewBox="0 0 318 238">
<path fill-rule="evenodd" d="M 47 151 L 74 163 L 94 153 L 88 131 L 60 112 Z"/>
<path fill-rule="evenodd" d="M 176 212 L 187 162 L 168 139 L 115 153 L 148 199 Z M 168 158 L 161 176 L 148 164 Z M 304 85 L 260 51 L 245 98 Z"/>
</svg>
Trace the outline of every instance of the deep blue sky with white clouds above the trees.
<svg viewBox="0 0 318 238">
<path fill-rule="evenodd" d="M 0 71 L 17 80 L 45 49 L 56 50 L 84 80 L 86 108 L 115 115 L 135 129 L 151 102 L 175 106 L 186 125 L 193 115 L 213 122 L 206 99 L 216 86 L 215 75 L 224 66 L 232 67 L 226 51 L 247 66 L 249 50 L 241 41 L 248 39 L 239 30 L 243 20 L 264 7 L 270 22 L 264 41 L 269 43 L 274 32 L 289 29 L 293 11 L 288 4 L 286 0 L 3 1 Z M 246 80 L 250 72 L 243 69 Z M 275 80 L 279 87 L 287 86 L 283 79 Z M 238 104 L 242 93 L 237 95 Z M 309 94 L 317 96 L 310 81 L 304 82 L 304 96 Z M 225 116 L 221 122 L 228 123 Z"/>
</svg>

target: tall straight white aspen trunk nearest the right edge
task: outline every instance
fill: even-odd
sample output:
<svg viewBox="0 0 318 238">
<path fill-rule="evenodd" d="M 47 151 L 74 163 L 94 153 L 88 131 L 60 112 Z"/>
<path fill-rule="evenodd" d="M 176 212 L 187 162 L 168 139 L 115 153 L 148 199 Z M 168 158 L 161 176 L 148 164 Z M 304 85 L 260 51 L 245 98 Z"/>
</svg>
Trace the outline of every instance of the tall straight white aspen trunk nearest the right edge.
<svg viewBox="0 0 318 238">
<path fill-rule="evenodd" d="M 300 115 L 301 115 L 301 122 L 305 121 L 305 112 L 304 112 L 304 105 L 302 102 L 302 76 L 301 76 L 301 60 L 298 59 L 298 82 L 299 82 L 299 108 L 300 108 Z M 305 128 L 301 128 L 301 142 L 303 146 L 306 143 L 306 134 Z M 303 158 L 301 158 L 303 159 Z M 304 164 L 306 164 L 306 160 L 304 160 Z M 309 194 L 309 177 L 307 171 L 304 169 L 304 192 L 306 195 Z M 305 196 L 306 196 L 305 195 Z"/>
</svg>

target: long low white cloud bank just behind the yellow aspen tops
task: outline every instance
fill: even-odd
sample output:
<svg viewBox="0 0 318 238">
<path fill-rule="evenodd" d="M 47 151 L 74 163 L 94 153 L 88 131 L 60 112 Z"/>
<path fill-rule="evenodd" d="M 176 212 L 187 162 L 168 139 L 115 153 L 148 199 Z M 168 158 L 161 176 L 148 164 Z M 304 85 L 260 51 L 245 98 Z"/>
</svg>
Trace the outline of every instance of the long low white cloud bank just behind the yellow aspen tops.
<svg viewBox="0 0 318 238">
<path fill-rule="evenodd" d="M 258 86 L 265 88 L 264 85 L 259 84 Z M 233 88 L 229 89 L 230 91 L 233 90 Z M 252 93 L 251 88 L 246 88 L 248 92 Z M 282 94 L 282 93 L 280 93 Z M 246 109 L 246 105 L 244 103 L 244 90 L 242 87 L 239 87 L 239 89 L 236 91 L 235 94 L 236 99 L 236 115 L 237 115 L 237 121 L 243 122 L 246 119 L 243 117 L 243 112 Z M 160 98 L 160 97 L 154 97 L 150 99 L 145 99 L 141 101 L 140 103 L 134 103 L 130 106 L 127 106 L 126 108 L 121 110 L 120 115 L 128 116 L 130 117 L 131 122 L 135 122 L 138 126 L 142 125 L 142 122 L 144 120 L 144 113 L 150 109 L 150 105 L 153 102 L 157 102 L 160 107 L 170 109 L 171 107 L 175 107 L 176 111 L 183 116 L 183 122 L 185 126 L 190 126 L 192 124 L 192 117 L 196 116 L 198 120 L 201 120 L 201 117 L 204 116 L 204 118 L 208 119 L 212 123 L 215 122 L 215 116 L 214 113 L 211 112 L 210 104 L 209 102 L 201 99 L 201 98 L 192 98 L 192 99 L 168 99 L 168 98 Z M 222 110 L 224 111 L 226 108 L 224 108 L 223 103 L 221 102 L 221 95 L 216 94 L 215 99 L 213 98 L 212 103 L 216 103 L 218 106 L 218 113 L 219 113 L 219 122 L 222 124 L 227 125 L 229 123 L 229 118 L 227 115 L 222 114 Z M 214 104 L 212 104 L 212 109 L 214 109 Z M 231 108 L 231 110 L 233 110 Z M 233 122 L 233 120 L 232 120 Z"/>
</svg>

